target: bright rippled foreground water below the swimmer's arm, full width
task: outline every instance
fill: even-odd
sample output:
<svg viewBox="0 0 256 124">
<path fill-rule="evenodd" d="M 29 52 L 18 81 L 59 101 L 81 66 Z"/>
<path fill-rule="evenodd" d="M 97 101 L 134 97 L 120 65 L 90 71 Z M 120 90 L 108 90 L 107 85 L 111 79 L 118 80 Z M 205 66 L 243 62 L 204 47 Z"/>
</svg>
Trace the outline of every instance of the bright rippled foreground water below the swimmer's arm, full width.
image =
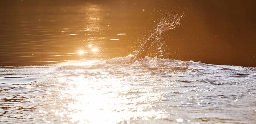
<svg viewBox="0 0 256 124">
<path fill-rule="evenodd" d="M 0 68 L 1 123 L 254 123 L 256 68 L 146 57 Z"/>
</svg>

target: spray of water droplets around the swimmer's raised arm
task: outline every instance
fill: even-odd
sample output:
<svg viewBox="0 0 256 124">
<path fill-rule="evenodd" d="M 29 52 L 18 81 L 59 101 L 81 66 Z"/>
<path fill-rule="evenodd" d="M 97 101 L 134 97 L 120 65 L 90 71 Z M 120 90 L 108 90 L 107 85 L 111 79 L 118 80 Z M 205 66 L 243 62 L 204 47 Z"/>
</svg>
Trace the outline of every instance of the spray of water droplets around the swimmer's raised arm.
<svg viewBox="0 0 256 124">
<path fill-rule="evenodd" d="M 159 30 L 164 24 L 175 24 L 172 30 L 163 33 L 164 35 L 158 35 L 157 38 L 155 38 L 156 41 L 151 44 L 152 48 L 148 51 L 148 56 L 162 58 L 163 52 L 168 51 L 167 48 L 164 48 L 165 43 L 168 42 L 166 36 L 172 34 L 174 30 L 181 26 L 181 21 L 184 19 L 184 15 L 184 12 L 170 12 L 163 7 L 152 9 L 147 17 L 148 21 L 151 22 L 148 23 L 147 27 L 150 26 L 152 28 L 139 37 L 136 42 L 139 42 L 140 46 L 142 46 L 148 36 Z"/>
</svg>

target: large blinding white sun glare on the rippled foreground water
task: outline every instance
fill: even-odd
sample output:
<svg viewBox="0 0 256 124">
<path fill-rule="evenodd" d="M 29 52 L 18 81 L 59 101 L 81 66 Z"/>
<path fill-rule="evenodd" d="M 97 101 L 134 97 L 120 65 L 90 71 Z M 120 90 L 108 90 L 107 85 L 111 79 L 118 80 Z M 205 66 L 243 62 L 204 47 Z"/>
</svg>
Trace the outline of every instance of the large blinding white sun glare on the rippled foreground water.
<svg viewBox="0 0 256 124">
<path fill-rule="evenodd" d="M 120 79 L 112 74 L 103 74 L 105 72 L 97 68 L 93 69 L 104 63 L 77 61 L 60 64 L 64 67 L 89 66 L 91 69 L 84 72 L 83 68 L 74 67 L 74 75 L 70 75 L 71 70 L 57 73 L 58 82 L 69 85 L 61 90 L 60 95 L 66 101 L 63 107 L 67 109 L 56 111 L 56 116 L 66 115 L 72 123 L 87 124 L 133 123 L 136 120 L 168 117 L 169 114 L 155 109 L 153 104 L 163 98 L 162 91 L 154 91 L 150 87 L 138 89 L 139 83 L 124 81 L 129 80 L 126 77 Z"/>
</svg>

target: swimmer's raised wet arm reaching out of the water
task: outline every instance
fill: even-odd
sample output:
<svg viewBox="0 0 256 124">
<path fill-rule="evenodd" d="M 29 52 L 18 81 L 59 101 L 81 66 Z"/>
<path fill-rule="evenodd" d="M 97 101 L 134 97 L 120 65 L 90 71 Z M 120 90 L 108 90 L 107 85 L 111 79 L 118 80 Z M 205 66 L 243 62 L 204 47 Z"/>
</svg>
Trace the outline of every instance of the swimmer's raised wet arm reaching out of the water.
<svg viewBox="0 0 256 124">
<path fill-rule="evenodd" d="M 145 43 L 141 46 L 139 52 L 137 53 L 137 55 L 134 57 L 134 58 L 131 58 L 132 61 L 131 62 L 134 62 L 136 60 L 141 60 L 143 59 L 145 56 L 146 56 L 146 53 L 151 45 L 151 43 L 153 41 L 156 40 L 157 36 L 167 30 L 170 30 L 170 29 L 174 29 L 174 25 L 173 24 L 174 22 L 172 23 L 167 23 L 167 24 L 164 24 L 159 30 L 157 30 L 155 33 L 153 33 L 146 41 Z"/>
</svg>

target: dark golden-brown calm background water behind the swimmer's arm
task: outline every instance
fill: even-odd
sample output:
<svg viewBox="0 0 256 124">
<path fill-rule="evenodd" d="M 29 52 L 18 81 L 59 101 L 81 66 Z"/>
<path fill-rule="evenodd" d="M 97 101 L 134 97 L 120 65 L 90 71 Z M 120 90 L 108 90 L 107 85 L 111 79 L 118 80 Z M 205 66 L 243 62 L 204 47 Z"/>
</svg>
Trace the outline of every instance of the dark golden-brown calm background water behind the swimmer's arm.
<svg viewBox="0 0 256 124">
<path fill-rule="evenodd" d="M 149 56 L 255 66 L 254 5 L 255 1 L 249 0 L 1 1 L 0 65 L 105 60 L 135 54 L 132 51 L 158 28 L 161 18 L 175 12 L 184 16 L 181 26 L 162 37 L 162 56 L 159 44 L 152 46 Z M 98 51 L 91 52 L 93 48 Z M 81 50 L 88 53 L 70 54 Z"/>
</svg>

